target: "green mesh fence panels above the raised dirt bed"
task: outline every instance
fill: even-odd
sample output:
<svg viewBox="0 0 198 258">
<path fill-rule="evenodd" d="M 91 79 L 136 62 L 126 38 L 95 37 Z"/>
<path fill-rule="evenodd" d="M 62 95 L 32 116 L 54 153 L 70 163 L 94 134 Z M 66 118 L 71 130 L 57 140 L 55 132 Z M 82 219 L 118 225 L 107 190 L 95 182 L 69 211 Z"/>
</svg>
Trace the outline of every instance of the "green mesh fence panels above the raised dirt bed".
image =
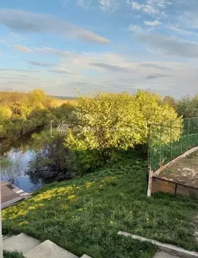
<svg viewBox="0 0 198 258">
<path fill-rule="evenodd" d="M 148 127 L 148 166 L 152 171 L 198 146 L 198 117 L 178 118 Z"/>
</svg>

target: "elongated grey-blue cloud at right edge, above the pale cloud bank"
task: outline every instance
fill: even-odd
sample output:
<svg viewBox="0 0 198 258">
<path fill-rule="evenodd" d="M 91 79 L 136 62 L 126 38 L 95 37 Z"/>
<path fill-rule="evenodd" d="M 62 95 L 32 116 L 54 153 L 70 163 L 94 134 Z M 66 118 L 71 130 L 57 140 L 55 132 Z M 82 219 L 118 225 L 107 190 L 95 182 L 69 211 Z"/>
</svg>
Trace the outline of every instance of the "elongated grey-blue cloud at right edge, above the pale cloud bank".
<svg viewBox="0 0 198 258">
<path fill-rule="evenodd" d="M 156 34 L 139 34 L 136 38 L 151 48 L 159 48 L 167 55 L 198 57 L 198 43 L 196 42 Z"/>
</svg>

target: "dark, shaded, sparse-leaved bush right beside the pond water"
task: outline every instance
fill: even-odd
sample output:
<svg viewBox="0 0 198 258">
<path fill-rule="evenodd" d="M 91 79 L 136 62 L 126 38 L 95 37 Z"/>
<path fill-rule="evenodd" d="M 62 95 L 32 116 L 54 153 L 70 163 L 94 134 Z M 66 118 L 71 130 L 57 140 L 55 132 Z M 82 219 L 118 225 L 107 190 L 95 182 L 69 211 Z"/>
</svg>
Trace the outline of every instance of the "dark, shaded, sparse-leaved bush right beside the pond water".
<svg viewBox="0 0 198 258">
<path fill-rule="evenodd" d="M 70 179 L 72 177 L 70 153 L 63 146 L 63 139 L 49 137 L 49 141 L 42 145 L 42 149 L 33 155 L 25 174 L 35 185 Z"/>
</svg>

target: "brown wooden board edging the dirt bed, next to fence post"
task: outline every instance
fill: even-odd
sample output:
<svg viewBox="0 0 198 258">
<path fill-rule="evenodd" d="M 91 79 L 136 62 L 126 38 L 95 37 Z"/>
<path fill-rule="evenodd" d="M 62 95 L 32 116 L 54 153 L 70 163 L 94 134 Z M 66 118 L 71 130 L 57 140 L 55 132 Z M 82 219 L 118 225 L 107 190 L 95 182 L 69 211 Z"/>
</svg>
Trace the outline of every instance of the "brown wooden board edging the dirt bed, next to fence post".
<svg viewBox="0 0 198 258">
<path fill-rule="evenodd" d="M 152 193 L 156 192 L 166 192 L 166 193 L 175 193 L 176 184 L 174 182 L 169 182 L 162 180 L 160 178 L 153 177 L 152 180 Z"/>
</svg>

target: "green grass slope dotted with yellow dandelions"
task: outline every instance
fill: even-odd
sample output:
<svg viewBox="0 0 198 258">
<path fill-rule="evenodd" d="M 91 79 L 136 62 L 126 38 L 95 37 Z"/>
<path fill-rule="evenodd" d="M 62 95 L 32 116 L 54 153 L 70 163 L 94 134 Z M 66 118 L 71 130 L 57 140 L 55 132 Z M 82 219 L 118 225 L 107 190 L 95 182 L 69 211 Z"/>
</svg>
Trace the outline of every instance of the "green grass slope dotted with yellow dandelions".
<svg viewBox="0 0 198 258">
<path fill-rule="evenodd" d="M 146 161 L 133 155 L 81 178 L 53 183 L 2 211 L 3 233 L 52 240 L 77 256 L 151 258 L 155 247 L 119 230 L 198 251 L 193 220 L 198 200 L 146 197 Z"/>
</svg>

